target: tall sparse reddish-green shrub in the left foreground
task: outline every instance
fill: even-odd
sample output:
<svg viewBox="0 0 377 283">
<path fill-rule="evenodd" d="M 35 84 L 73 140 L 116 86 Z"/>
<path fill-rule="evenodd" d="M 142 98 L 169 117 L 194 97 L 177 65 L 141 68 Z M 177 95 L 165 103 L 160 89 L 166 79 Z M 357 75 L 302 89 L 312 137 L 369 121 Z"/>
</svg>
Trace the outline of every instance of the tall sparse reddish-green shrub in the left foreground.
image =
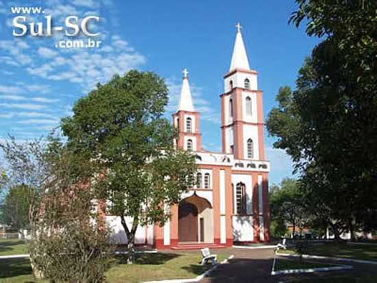
<svg viewBox="0 0 377 283">
<path fill-rule="evenodd" d="M 45 160 L 50 177 L 42 184 L 29 247 L 34 275 L 51 282 L 104 282 L 113 249 L 93 203 L 93 163 L 59 139 L 50 140 Z"/>
</svg>

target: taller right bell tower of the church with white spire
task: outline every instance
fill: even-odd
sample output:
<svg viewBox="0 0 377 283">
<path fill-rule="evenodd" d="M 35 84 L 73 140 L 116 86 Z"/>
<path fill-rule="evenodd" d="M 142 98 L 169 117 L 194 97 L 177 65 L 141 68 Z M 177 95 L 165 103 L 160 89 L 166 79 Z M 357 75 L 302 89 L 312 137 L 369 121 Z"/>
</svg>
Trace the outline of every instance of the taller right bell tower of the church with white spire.
<svg viewBox="0 0 377 283">
<path fill-rule="evenodd" d="M 257 75 L 250 69 L 237 23 L 232 61 L 220 95 L 222 152 L 233 154 L 235 159 L 265 159 L 263 91 L 258 90 Z"/>
</svg>

